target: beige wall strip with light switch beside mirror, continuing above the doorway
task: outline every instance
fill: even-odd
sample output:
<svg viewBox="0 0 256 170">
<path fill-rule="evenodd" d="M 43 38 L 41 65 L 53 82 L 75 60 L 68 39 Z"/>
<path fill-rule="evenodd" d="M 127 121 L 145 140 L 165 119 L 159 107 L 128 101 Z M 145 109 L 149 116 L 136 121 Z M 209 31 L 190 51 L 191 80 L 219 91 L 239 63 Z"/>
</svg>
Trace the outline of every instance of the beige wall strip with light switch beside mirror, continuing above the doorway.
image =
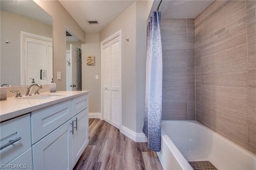
<svg viewBox="0 0 256 170">
<path fill-rule="evenodd" d="M 85 32 L 70 16 L 66 9 L 57 0 L 36 0 L 53 18 L 53 78 L 56 90 L 66 90 L 66 27 L 85 43 Z M 57 80 L 57 72 L 61 72 L 61 80 Z"/>
</svg>

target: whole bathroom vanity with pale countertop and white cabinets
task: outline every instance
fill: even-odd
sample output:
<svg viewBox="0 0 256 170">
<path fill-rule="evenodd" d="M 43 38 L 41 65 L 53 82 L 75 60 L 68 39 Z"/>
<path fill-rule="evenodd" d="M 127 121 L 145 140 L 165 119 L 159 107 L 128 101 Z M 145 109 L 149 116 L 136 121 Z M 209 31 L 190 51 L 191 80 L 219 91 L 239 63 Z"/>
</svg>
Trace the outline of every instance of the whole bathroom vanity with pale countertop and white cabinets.
<svg viewBox="0 0 256 170">
<path fill-rule="evenodd" d="M 0 106 L 0 168 L 75 166 L 88 144 L 88 91 L 13 97 Z"/>
</svg>

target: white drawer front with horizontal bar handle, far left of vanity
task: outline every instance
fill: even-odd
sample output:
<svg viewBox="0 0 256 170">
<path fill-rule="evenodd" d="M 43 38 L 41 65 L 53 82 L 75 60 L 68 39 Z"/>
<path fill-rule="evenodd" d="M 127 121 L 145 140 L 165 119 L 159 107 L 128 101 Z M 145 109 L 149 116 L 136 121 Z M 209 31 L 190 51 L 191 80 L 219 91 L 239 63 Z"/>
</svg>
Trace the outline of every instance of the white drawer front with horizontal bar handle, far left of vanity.
<svg viewBox="0 0 256 170">
<path fill-rule="evenodd" d="M 0 150 L 0 164 L 8 164 L 31 147 L 30 114 L 2 122 L 0 132 L 1 147 L 10 143 L 10 140 L 21 138 Z"/>
</svg>

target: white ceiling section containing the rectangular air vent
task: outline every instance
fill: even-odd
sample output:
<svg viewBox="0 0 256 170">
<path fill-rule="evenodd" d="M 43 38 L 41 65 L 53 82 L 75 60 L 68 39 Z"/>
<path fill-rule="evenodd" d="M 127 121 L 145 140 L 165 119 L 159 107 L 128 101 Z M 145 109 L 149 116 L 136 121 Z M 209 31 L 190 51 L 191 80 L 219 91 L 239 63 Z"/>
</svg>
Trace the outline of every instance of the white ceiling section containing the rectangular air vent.
<svg viewBox="0 0 256 170">
<path fill-rule="evenodd" d="M 59 0 L 86 33 L 100 32 L 134 0 Z M 97 20 L 98 24 L 89 24 Z"/>
</svg>

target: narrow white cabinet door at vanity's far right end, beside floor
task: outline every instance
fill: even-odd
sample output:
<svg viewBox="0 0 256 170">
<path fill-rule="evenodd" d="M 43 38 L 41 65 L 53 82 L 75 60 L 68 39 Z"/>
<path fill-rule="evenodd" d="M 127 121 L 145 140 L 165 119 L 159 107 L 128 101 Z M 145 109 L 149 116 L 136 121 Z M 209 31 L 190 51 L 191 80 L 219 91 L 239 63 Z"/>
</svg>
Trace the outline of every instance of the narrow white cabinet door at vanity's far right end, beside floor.
<svg viewBox="0 0 256 170">
<path fill-rule="evenodd" d="M 88 107 L 72 118 L 73 134 L 73 167 L 88 144 Z M 77 128 L 76 128 L 77 127 Z"/>
</svg>

